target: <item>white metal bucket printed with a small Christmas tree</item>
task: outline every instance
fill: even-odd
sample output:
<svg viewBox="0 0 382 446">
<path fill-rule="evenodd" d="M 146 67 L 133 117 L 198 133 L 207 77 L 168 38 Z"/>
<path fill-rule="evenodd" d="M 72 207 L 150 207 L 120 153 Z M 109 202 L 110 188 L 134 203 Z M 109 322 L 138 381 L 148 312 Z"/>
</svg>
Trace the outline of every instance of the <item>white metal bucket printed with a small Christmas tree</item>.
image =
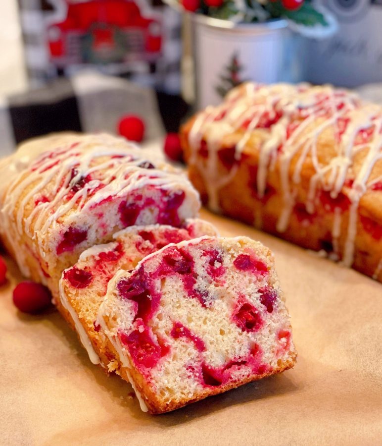
<svg viewBox="0 0 382 446">
<path fill-rule="evenodd" d="M 297 82 L 302 78 L 298 48 L 303 42 L 285 20 L 237 24 L 195 15 L 193 24 L 196 108 L 217 105 L 245 80 Z"/>
</svg>

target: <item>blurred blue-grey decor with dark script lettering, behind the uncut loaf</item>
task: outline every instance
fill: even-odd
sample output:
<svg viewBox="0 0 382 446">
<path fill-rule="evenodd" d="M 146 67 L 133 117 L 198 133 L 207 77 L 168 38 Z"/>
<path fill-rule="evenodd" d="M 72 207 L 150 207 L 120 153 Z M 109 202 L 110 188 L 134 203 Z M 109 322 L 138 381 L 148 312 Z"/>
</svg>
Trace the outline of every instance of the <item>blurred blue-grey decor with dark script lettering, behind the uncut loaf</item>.
<svg viewBox="0 0 382 446">
<path fill-rule="evenodd" d="M 339 31 L 325 41 L 311 41 L 306 79 L 358 87 L 382 81 L 382 1 L 317 0 L 337 18 Z"/>
</svg>

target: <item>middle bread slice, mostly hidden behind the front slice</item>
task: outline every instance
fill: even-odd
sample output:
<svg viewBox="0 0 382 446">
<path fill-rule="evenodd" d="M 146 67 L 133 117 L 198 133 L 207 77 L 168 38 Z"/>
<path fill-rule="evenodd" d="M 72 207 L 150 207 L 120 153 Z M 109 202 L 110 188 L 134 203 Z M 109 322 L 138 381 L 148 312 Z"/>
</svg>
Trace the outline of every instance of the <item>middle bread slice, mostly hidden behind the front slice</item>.
<svg viewBox="0 0 382 446">
<path fill-rule="evenodd" d="M 113 242 L 87 249 L 73 267 L 63 272 L 59 283 L 61 312 L 77 331 L 94 364 L 108 371 L 119 368 L 107 337 L 96 323 L 109 280 L 118 270 L 134 269 L 146 255 L 169 243 L 201 235 L 217 232 L 210 223 L 197 219 L 179 228 L 160 224 L 130 226 L 114 234 Z"/>
</svg>

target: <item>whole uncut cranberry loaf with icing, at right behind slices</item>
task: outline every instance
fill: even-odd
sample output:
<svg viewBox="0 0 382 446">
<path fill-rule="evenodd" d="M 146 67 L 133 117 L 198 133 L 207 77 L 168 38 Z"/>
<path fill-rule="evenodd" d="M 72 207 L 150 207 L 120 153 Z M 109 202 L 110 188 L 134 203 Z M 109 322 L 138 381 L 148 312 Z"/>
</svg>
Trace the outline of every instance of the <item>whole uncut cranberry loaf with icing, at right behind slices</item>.
<svg viewBox="0 0 382 446">
<path fill-rule="evenodd" d="M 181 131 L 202 201 L 382 281 L 382 109 L 331 86 L 243 84 Z"/>
</svg>

